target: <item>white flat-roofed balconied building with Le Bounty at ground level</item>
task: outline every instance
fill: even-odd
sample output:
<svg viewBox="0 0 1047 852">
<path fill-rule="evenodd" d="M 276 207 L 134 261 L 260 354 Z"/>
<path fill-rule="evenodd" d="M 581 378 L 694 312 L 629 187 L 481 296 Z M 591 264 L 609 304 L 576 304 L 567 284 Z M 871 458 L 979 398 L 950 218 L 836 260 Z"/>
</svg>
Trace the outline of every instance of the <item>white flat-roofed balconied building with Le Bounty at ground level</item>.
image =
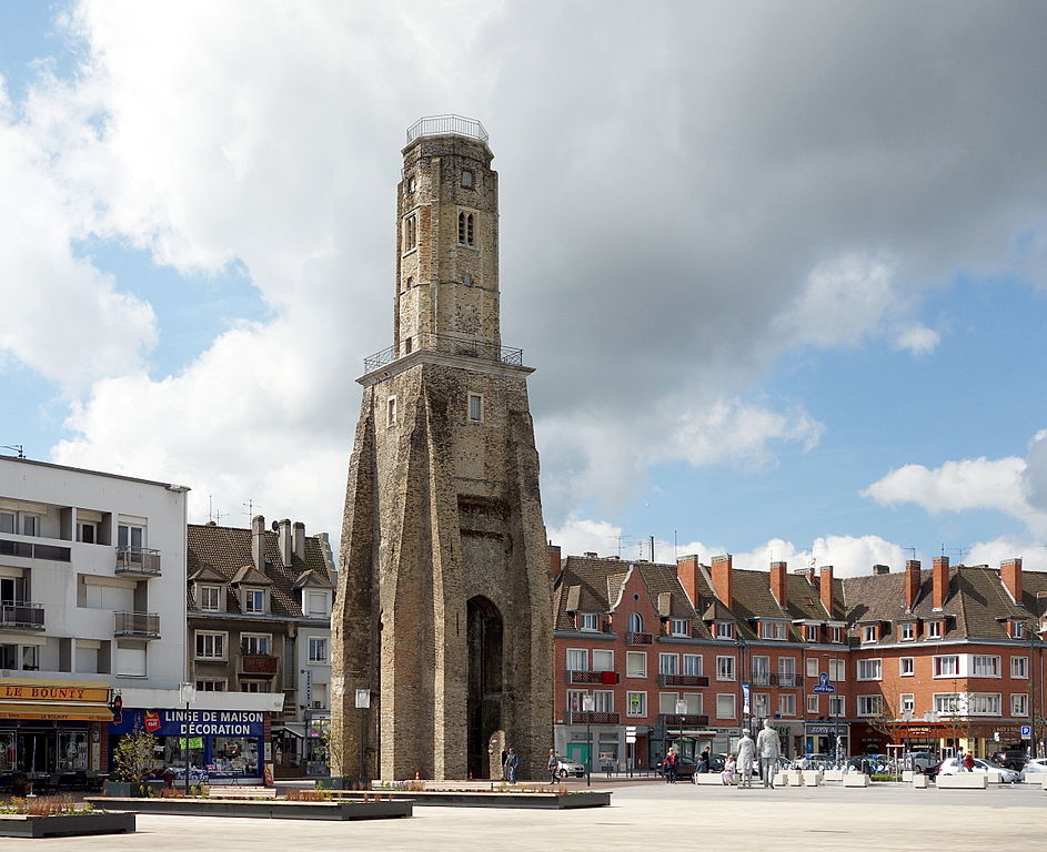
<svg viewBox="0 0 1047 852">
<path fill-rule="evenodd" d="M 0 458 L 0 772 L 104 772 L 111 697 L 177 689 L 187 490 Z"/>
</svg>

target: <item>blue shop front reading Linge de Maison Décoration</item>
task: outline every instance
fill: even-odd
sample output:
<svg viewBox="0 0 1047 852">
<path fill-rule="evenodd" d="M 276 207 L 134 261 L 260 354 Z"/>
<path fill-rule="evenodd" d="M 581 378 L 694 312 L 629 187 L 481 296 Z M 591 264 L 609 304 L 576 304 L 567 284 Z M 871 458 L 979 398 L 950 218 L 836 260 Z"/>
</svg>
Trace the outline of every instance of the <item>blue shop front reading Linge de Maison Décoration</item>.
<svg viewBox="0 0 1047 852">
<path fill-rule="evenodd" d="M 265 713 L 250 710 L 124 710 L 110 726 L 112 747 L 142 731 L 157 738 L 153 775 L 170 768 L 190 780 L 260 781 L 264 773 Z"/>
</svg>

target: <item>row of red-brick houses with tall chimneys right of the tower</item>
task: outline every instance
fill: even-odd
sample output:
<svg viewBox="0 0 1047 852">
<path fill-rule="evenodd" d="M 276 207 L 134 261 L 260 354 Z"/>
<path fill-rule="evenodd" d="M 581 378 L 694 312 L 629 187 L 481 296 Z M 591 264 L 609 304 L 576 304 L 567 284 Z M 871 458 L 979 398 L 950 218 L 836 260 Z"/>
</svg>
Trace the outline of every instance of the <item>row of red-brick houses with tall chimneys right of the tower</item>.
<svg viewBox="0 0 1047 852">
<path fill-rule="evenodd" d="M 1029 748 L 1034 724 L 1044 739 L 1047 575 L 1020 559 L 848 578 L 729 555 L 660 565 L 551 546 L 550 561 L 556 749 L 592 749 L 594 771 L 650 767 L 674 744 L 727 751 L 766 718 L 789 757 L 986 754 Z"/>
</svg>

